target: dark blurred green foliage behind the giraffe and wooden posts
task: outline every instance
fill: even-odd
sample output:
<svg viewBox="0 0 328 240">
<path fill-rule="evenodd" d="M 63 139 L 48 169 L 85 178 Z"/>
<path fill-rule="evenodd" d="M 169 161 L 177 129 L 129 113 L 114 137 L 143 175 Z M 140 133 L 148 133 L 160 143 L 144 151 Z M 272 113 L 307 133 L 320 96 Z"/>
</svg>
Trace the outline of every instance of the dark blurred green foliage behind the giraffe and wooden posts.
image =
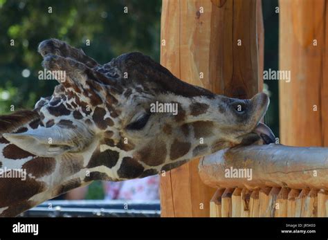
<svg viewBox="0 0 328 240">
<path fill-rule="evenodd" d="M 262 1 L 264 70 L 278 67 L 276 7 L 277 0 Z M 159 62 L 161 0 L 0 0 L 0 36 L 0 114 L 10 113 L 11 105 L 15 111 L 33 109 L 35 102 L 51 95 L 57 84 L 37 78 L 38 71 L 43 70 L 42 57 L 37 53 L 40 41 L 51 37 L 67 41 L 101 64 L 131 51 Z M 11 39 L 15 46 L 10 46 Z M 86 39 L 90 46 L 86 46 Z M 264 81 L 264 89 L 271 96 L 265 122 L 275 136 L 279 136 L 277 88 L 276 80 Z M 90 185 L 87 199 L 103 199 L 101 182 Z"/>
</svg>

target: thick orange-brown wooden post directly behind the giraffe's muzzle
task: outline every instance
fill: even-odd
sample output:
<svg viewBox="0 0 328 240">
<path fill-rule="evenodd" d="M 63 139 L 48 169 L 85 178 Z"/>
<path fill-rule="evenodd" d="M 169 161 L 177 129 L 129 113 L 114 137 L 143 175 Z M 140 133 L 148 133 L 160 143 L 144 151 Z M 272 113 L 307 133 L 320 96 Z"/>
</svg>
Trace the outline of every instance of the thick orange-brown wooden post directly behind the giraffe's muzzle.
<svg viewBox="0 0 328 240">
<path fill-rule="evenodd" d="M 183 81 L 230 97 L 251 98 L 262 86 L 258 1 L 163 0 L 161 64 Z M 192 160 L 161 178 L 162 216 L 210 215 L 215 189 L 201 182 L 198 163 Z"/>
</svg>

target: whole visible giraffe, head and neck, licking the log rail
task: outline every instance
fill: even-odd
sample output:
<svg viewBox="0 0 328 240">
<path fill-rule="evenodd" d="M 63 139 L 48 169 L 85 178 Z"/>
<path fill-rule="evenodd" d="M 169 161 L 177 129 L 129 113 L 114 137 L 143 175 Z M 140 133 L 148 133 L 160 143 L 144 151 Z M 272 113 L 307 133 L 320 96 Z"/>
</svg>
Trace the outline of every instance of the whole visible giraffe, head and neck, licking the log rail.
<svg viewBox="0 0 328 240">
<path fill-rule="evenodd" d="M 44 68 L 65 79 L 57 77 L 53 95 L 33 111 L 0 116 L 0 167 L 27 173 L 25 181 L 0 176 L 1 216 L 91 181 L 143 178 L 226 147 L 275 141 L 259 123 L 269 102 L 264 93 L 250 100 L 215 95 L 141 53 L 101 65 L 57 39 L 38 50 Z M 156 103 L 176 114 L 151 111 Z"/>
</svg>

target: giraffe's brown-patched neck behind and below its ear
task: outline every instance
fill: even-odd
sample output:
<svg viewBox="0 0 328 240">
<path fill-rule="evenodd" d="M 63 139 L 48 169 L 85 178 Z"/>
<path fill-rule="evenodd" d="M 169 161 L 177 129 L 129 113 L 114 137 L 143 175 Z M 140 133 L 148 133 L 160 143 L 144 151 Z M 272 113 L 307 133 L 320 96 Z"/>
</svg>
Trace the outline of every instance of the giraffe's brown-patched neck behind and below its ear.
<svg viewBox="0 0 328 240">
<path fill-rule="evenodd" d="M 10 132 L 37 128 L 39 120 L 34 117 L 23 115 L 20 124 L 16 119 Z M 88 167 L 91 153 L 98 144 L 96 140 L 80 154 L 44 158 L 8 142 L 1 136 L 4 132 L 0 132 L 0 216 L 16 216 L 64 192 L 105 178 L 101 166 Z"/>
</svg>

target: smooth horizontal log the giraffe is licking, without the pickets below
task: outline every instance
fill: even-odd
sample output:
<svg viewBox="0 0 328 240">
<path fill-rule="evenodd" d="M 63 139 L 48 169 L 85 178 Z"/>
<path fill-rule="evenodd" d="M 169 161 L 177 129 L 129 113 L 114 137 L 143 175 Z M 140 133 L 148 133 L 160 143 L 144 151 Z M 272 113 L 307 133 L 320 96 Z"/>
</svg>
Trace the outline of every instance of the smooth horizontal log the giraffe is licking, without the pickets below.
<svg viewBox="0 0 328 240">
<path fill-rule="evenodd" d="M 211 187 L 328 189 L 327 159 L 325 147 L 251 145 L 206 156 L 199 174 Z M 234 177 L 233 171 L 239 173 Z"/>
</svg>

